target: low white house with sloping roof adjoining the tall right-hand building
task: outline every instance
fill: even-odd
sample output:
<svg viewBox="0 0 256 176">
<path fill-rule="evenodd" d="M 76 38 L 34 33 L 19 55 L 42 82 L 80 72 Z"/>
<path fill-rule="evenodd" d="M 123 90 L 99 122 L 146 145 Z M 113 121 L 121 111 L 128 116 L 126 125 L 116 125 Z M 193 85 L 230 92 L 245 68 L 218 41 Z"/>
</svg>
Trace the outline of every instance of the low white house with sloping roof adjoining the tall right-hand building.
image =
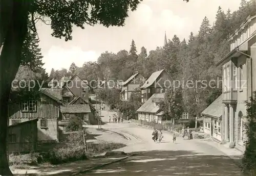
<svg viewBox="0 0 256 176">
<path fill-rule="evenodd" d="M 203 130 L 204 133 L 208 134 L 211 138 L 214 138 L 218 142 L 222 142 L 222 113 L 223 104 L 222 96 L 220 95 L 214 100 L 203 112 Z"/>
</svg>

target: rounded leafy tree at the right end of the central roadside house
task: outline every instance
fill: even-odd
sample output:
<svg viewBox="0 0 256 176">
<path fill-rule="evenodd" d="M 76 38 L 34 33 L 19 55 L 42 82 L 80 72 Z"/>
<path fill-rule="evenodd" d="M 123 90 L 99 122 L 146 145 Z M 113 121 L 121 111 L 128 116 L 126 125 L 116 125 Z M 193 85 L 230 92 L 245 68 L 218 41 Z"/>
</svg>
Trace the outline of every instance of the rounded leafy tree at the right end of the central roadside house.
<svg viewBox="0 0 256 176">
<path fill-rule="evenodd" d="M 170 88 L 159 104 L 167 119 L 179 119 L 183 113 L 183 98 L 181 88 Z"/>
</svg>

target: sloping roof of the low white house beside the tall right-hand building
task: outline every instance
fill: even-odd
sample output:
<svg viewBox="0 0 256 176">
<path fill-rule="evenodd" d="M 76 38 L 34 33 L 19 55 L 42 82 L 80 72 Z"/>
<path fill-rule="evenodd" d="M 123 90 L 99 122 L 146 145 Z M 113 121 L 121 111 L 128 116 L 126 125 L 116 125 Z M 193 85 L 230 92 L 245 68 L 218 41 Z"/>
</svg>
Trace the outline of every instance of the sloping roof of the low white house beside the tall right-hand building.
<svg viewBox="0 0 256 176">
<path fill-rule="evenodd" d="M 207 108 L 201 113 L 205 116 L 219 118 L 222 116 L 223 104 L 222 104 L 222 95 L 214 100 Z"/>
</svg>

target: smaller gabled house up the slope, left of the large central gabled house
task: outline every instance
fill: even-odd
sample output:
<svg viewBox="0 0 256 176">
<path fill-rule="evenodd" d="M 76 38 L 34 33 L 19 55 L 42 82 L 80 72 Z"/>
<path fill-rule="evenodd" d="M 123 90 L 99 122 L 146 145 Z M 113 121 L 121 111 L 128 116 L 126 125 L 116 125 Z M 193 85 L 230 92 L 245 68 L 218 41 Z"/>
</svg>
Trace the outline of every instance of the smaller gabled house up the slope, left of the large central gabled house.
<svg viewBox="0 0 256 176">
<path fill-rule="evenodd" d="M 129 100 L 132 92 L 135 92 L 136 89 L 144 84 L 145 78 L 140 73 L 135 73 L 129 79 L 127 79 L 122 84 L 122 90 L 120 92 L 120 99 L 121 100 Z"/>
</svg>

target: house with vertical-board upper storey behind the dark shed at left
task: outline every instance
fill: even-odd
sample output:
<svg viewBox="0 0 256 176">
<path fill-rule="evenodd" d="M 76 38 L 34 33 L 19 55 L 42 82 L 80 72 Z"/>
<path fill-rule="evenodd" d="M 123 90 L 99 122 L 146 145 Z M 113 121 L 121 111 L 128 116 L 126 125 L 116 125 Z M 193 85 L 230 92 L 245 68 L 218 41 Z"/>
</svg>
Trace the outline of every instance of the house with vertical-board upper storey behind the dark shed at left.
<svg viewBox="0 0 256 176">
<path fill-rule="evenodd" d="M 38 118 L 37 139 L 40 142 L 58 142 L 59 107 L 63 103 L 45 90 L 39 91 L 39 97 L 8 105 L 9 125 Z"/>
</svg>

